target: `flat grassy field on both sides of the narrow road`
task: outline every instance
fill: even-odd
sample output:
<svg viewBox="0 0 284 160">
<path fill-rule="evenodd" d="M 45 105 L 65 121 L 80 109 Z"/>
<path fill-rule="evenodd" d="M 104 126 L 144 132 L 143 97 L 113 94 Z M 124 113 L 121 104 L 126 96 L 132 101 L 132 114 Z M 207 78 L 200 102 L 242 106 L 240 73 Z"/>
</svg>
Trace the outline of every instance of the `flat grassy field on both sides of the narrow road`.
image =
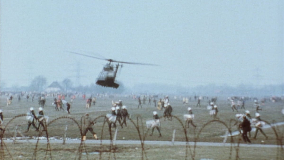
<svg viewBox="0 0 284 160">
<path fill-rule="evenodd" d="M 22 98 L 22 100 L 18 102 L 18 99 L 14 97 L 14 99 L 12 100 L 12 104 L 10 106 L 6 106 L 6 98 L 7 97 L 5 96 L 1 96 L 1 102 L 0 102 L 0 106 L 1 106 L 1 109 L 3 110 L 3 115 L 4 115 L 4 125 L 3 126 L 5 126 L 7 122 L 9 122 L 13 117 L 20 115 L 20 114 L 26 114 L 27 112 L 29 112 L 30 107 L 34 107 L 36 114 L 38 113 L 37 108 L 39 107 L 39 104 L 37 103 L 37 100 L 32 102 L 31 99 L 27 101 L 25 98 Z M 157 108 L 154 107 L 153 102 L 152 102 L 152 105 L 147 105 L 148 100 L 146 101 L 146 104 L 142 104 L 143 108 L 138 109 L 137 108 L 138 101 L 132 99 L 132 97 L 130 96 L 115 95 L 113 98 L 97 97 L 96 105 L 95 106 L 92 105 L 91 108 L 85 108 L 86 100 L 83 100 L 81 97 L 79 97 L 74 100 L 71 106 L 71 109 L 70 109 L 71 114 L 66 113 L 66 108 L 65 108 L 65 111 L 55 111 L 54 106 L 51 105 L 53 102 L 53 98 L 47 97 L 46 106 L 43 108 L 44 114 L 49 116 L 49 122 L 58 118 L 58 120 L 55 120 L 48 126 L 48 136 L 49 137 L 62 137 L 64 135 L 64 130 L 66 128 L 66 125 L 68 125 L 67 137 L 68 138 L 80 138 L 81 135 L 80 135 L 80 130 L 78 126 L 73 120 L 71 120 L 70 118 L 66 118 L 66 116 L 74 118 L 80 125 L 81 117 L 86 112 L 88 112 L 92 118 L 97 118 L 99 116 L 105 116 L 107 113 L 111 112 L 110 110 L 112 106 L 111 100 L 118 101 L 119 99 L 121 99 L 123 104 L 127 106 L 128 113 L 131 114 L 131 119 L 136 125 L 137 125 L 137 117 L 139 117 L 138 124 L 139 124 L 140 133 L 145 133 L 147 131 L 145 122 L 146 120 L 151 120 L 153 118 L 152 112 L 154 110 L 158 112 L 158 115 L 161 118 L 162 137 L 158 138 L 158 132 L 154 130 L 153 136 L 149 136 L 151 131 L 145 134 L 145 140 L 171 141 L 173 130 L 176 129 L 175 141 L 186 141 L 185 132 L 180 122 L 184 124 L 185 121 L 183 120 L 183 114 L 187 114 L 187 107 L 190 106 L 193 110 L 193 113 L 195 114 L 195 119 L 193 120 L 193 122 L 195 125 L 197 125 L 197 128 L 194 130 L 194 128 L 190 126 L 189 128 L 186 129 L 188 140 L 189 141 L 196 140 L 196 141 L 204 141 L 204 142 L 206 141 L 207 142 L 223 142 L 224 138 L 220 136 L 224 135 L 225 132 L 227 131 L 224 124 L 226 124 L 227 126 L 230 126 L 229 124 L 230 120 L 235 119 L 235 114 L 245 112 L 245 110 L 239 110 L 239 112 L 236 112 L 236 111 L 232 112 L 227 99 L 218 98 L 216 104 L 219 110 L 218 117 L 220 118 L 220 121 L 212 122 L 205 126 L 207 122 L 210 122 L 211 120 L 213 120 L 213 118 L 210 117 L 209 115 L 209 111 L 206 109 L 206 106 L 208 105 L 208 100 L 202 100 L 201 107 L 196 107 L 197 101 L 189 101 L 189 104 L 187 106 L 184 106 L 182 104 L 182 97 L 178 97 L 177 99 L 174 99 L 173 97 L 169 97 L 169 98 L 170 98 L 171 106 L 173 107 L 172 115 L 178 118 L 178 119 L 173 118 L 172 121 L 164 120 L 164 118 L 162 118 L 163 111 L 157 110 Z M 69 98 L 66 98 L 66 100 L 70 101 Z M 275 103 L 266 102 L 265 105 L 262 106 L 262 110 L 260 111 L 262 120 L 265 120 L 269 123 L 283 122 L 284 116 L 281 113 L 281 109 L 283 108 L 283 106 L 284 106 L 283 102 L 275 102 Z M 245 107 L 246 107 L 246 110 L 250 110 L 251 116 L 254 117 L 255 108 L 253 107 L 253 101 L 246 101 Z M 104 126 L 104 129 L 103 129 L 103 120 L 104 120 L 103 117 L 97 119 L 97 123 L 94 125 L 94 131 L 97 132 L 97 135 L 99 138 L 109 139 L 110 136 L 107 130 L 107 126 Z M 221 122 L 224 124 L 222 124 Z M 234 122 L 231 122 L 231 124 L 233 123 Z M 118 127 L 119 130 L 118 130 L 118 135 L 116 139 L 117 140 L 139 140 L 139 134 L 135 126 L 131 123 L 130 120 L 127 121 L 127 124 L 128 126 L 124 128 L 121 128 L 117 124 L 117 126 L 119 126 Z M 18 130 L 23 133 L 27 127 L 26 118 L 24 116 L 15 118 L 7 126 L 5 134 L 4 134 L 4 138 L 13 137 L 14 128 L 16 125 L 18 125 Z M 113 130 L 112 134 L 114 134 L 114 129 L 112 130 Z M 236 131 L 237 127 L 234 126 L 231 128 L 231 130 Z M 266 144 L 279 143 L 279 140 L 278 141 L 276 140 L 275 131 L 278 137 L 282 138 L 281 140 L 283 142 L 283 130 L 284 130 L 283 126 L 278 126 L 275 128 L 275 130 L 273 130 L 272 128 L 263 129 L 263 131 L 269 137 L 268 140 L 266 140 L 265 137 L 260 132 L 258 132 L 256 140 L 251 139 L 252 143 L 257 144 L 257 143 L 262 143 L 262 141 L 265 141 L 264 143 Z M 38 136 L 38 133 L 39 132 L 36 132 L 35 129 L 31 126 L 30 131 L 28 133 L 24 133 L 24 135 L 32 137 L 32 136 Z M 251 135 L 253 137 L 254 132 L 252 132 Z M 142 134 L 142 137 L 143 137 L 143 134 Z M 198 139 L 195 139 L 197 137 Z M 238 138 L 239 136 L 233 137 L 234 143 L 238 142 Z M 93 139 L 90 133 L 87 133 L 87 139 Z M 227 142 L 230 142 L 230 138 L 228 138 Z M 12 144 L 9 144 L 9 146 L 10 145 Z M 32 146 L 29 145 L 29 147 L 33 148 L 34 145 Z M 62 147 L 66 147 L 66 146 L 62 146 Z M 78 145 L 76 147 L 78 149 Z M 72 150 L 73 152 L 74 150 L 76 150 L 76 147 L 74 146 L 73 150 L 70 147 L 70 150 Z M 8 148 L 11 149 L 14 147 L 11 147 L 11 148 L 8 147 Z M 43 147 L 43 148 L 46 148 L 46 147 Z M 66 150 L 66 149 L 63 149 L 63 150 L 60 149 L 61 148 L 60 146 L 56 146 L 53 148 L 58 149 L 59 150 L 58 152 L 62 152 L 62 151 L 64 152 Z M 133 156 L 137 154 L 137 156 L 135 156 L 134 159 L 141 159 L 140 150 L 133 151 L 135 153 L 132 153 L 132 152 L 128 153 L 133 147 L 129 146 L 124 149 L 124 146 L 123 147 L 117 146 L 117 148 L 119 150 L 119 153 L 115 154 L 117 156 L 116 159 L 119 159 L 118 157 L 124 157 L 123 156 L 124 153 L 125 153 L 125 157 L 129 157 L 130 155 Z M 185 147 L 165 147 L 163 149 L 163 146 L 149 146 L 148 148 L 149 149 L 146 150 L 148 159 L 158 159 L 158 158 L 155 158 L 155 156 L 157 156 L 157 153 L 155 153 L 154 150 L 162 150 L 162 151 L 165 151 L 167 149 L 173 150 L 172 154 L 170 152 L 167 152 L 169 156 L 166 156 L 167 154 L 165 152 L 160 153 L 159 154 L 160 156 L 165 156 L 164 158 L 160 158 L 160 159 L 184 159 L 184 155 L 185 155 L 185 154 L 180 154 L 180 155 L 176 154 L 176 153 L 179 153 L 180 150 L 185 151 Z M 220 153 L 220 151 L 223 152 L 224 149 L 227 149 L 227 148 L 226 147 L 199 147 L 199 149 L 197 148 L 196 159 L 209 158 L 209 157 L 211 157 L 212 159 L 228 159 L 229 153 L 226 154 L 228 155 L 227 158 L 222 158 L 223 156 L 220 157 L 220 155 L 217 154 L 217 153 Z M 32 154 L 33 150 L 34 149 L 31 149 L 31 152 L 29 152 L 29 154 Z M 209 151 L 208 153 L 206 152 L 207 150 Z M 240 148 L 239 155 L 249 156 L 248 158 L 245 158 L 245 156 L 243 156 L 241 157 L 241 159 L 257 159 L 254 157 L 254 155 L 257 155 L 254 150 L 259 150 L 259 149 L 247 150 L 247 149 Z M 260 155 L 265 153 L 262 156 L 263 159 L 275 159 L 276 151 L 277 151 L 276 148 L 274 149 L 270 148 L 266 150 L 266 153 L 263 151 L 260 151 L 261 153 Z M 17 154 L 18 153 L 15 152 L 15 156 L 18 156 Z M 53 154 L 55 153 L 53 152 Z M 108 154 L 108 153 L 106 152 L 104 154 Z M 118 156 L 118 155 L 121 155 L 121 156 Z M 133 159 L 133 158 L 129 158 L 129 159 Z"/>
</svg>

